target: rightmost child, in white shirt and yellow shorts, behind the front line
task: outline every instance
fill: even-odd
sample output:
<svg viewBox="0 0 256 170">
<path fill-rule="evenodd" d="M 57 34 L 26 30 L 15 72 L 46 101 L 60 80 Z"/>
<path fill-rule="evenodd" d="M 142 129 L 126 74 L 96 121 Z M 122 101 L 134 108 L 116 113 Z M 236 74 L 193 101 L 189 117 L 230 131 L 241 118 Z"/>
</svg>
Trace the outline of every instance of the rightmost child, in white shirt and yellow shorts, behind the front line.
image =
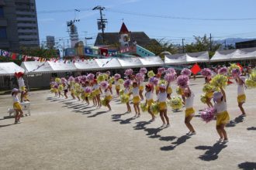
<svg viewBox="0 0 256 170">
<path fill-rule="evenodd" d="M 237 82 L 237 103 L 238 107 L 240 108 L 242 115 L 246 116 L 243 104 L 245 103 L 246 96 L 244 93 L 245 88 L 245 76 L 238 76 L 236 79 Z"/>
</svg>

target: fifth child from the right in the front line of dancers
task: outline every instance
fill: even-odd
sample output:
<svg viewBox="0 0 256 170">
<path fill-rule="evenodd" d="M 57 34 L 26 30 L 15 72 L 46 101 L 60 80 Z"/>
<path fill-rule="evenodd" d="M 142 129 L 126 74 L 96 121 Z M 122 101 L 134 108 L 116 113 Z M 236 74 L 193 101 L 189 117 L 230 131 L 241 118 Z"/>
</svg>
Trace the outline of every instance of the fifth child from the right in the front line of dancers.
<svg viewBox="0 0 256 170">
<path fill-rule="evenodd" d="M 140 89 L 136 81 L 133 81 L 133 91 L 130 94 L 133 94 L 133 107 L 135 110 L 134 118 L 140 117 Z"/>
</svg>

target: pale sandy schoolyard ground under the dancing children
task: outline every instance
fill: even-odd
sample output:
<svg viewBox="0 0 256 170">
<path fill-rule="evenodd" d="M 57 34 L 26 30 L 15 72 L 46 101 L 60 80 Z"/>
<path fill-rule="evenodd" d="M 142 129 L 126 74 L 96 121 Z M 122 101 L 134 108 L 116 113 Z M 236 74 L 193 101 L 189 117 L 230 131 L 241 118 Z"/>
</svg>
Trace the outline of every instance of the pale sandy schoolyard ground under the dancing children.
<svg viewBox="0 0 256 170">
<path fill-rule="evenodd" d="M 206 107 L 199 100 L 202 83 L 191 81 L 197 112 Z M 118 98 L 106 112 L 47 90 L 32 92 L 31 117 L 22 124 L 0 121 L 0 169 L 255 169 L 255 92 L 246 90 L 247 117 L 240 117 L 237 85 L 227 87 L 227 144 L 216 143 L 215 121 L 206 124 L 199 117 L 192 120 L 197 134 L 186 136 L 184 110 L 169 107 L 171 127 L 161 130 L 160 117 L 153 123 L 147 113 L 133 119 Z M 9 95 L 0 96 L 0 117 L 11 105 Z"/>
</svg>

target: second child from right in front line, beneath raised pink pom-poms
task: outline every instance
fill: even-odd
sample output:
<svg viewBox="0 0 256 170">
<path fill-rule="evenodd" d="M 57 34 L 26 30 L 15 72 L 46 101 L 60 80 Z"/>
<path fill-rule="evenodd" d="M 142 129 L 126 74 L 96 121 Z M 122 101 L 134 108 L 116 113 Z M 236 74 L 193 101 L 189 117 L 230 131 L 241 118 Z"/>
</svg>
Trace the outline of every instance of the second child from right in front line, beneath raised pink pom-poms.
<svg viewBox="0 0 256 170">
<path fill-rule="evenodd" d="M 190 124 L 190 121 L 195 115 L 195 110 L 193 108 L 195 95 L 194 93 L 192 93 L 189 87 L 185 88 L 184 95 L 185 95 L 185 125 L 187 126 L 187 128 L 189 128 L 188 134 L 195 134 L 195 129 L 192 127 L 192 124 Z"/>
</svg>

